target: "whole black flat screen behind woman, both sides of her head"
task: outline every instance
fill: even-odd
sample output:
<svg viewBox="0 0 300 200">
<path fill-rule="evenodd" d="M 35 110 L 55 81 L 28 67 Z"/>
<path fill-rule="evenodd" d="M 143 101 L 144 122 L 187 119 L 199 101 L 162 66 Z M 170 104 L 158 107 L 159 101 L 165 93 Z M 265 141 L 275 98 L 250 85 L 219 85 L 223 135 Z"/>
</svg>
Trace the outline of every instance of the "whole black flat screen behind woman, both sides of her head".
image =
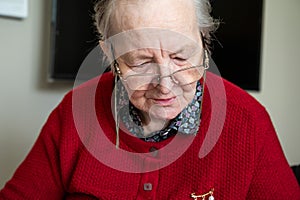
<svg viewBox="0 0 300 200">
<path fill-rule="evenodd" d="M 94 2 L 53 0 L 52 81 L 73 81 L 85 57 L 98 45 L 92 20 Z M 259 90 L 262 0 L 211 0 L 211 4 L 213 17 L 221 22 L 212 43 L 212 58 L 221 76 L 243 89 Z M 96 71 L 87 79 L 97 76 Z"/>
</svg>

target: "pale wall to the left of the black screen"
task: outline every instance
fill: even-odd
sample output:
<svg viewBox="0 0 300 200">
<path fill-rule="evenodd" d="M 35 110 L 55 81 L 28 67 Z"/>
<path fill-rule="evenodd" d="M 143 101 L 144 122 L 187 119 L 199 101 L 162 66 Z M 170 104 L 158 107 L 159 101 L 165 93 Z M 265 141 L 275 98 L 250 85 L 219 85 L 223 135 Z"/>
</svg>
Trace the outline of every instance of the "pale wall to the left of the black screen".
<svg viewBox="0 0 300 200">
<path fill-rule="evenodd" d="M 29 17 L 0 18 L 0 188 L 33 145 L 71 84 L 47 84 L 49 0 L 29 0 Z"/>
</svg>

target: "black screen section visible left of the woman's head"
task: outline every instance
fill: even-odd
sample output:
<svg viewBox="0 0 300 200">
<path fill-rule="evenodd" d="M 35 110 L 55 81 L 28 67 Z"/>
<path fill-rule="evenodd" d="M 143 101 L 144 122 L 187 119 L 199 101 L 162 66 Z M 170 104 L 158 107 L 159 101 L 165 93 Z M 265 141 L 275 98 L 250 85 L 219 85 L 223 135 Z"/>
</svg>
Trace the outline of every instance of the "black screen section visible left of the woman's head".
<svg viewBox="0 0 300 200">
<path fill-rule="evenodd" d="M 92 0 L 54 0 L 52 79 L 75 79 L 88 53 L 97 45 Z"/>
</svg>

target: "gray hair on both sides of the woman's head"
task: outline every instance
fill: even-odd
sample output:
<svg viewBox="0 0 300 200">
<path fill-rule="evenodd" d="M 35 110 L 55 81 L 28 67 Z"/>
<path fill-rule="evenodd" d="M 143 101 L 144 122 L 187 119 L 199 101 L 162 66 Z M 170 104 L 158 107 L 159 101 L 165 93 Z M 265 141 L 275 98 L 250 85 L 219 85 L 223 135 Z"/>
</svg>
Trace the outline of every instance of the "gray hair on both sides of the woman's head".
<svg viewBox="0 0 300 200">
<path fill-rule="evenodd" d="M 106 39 L 110 33 L 110 19 L 117 0 L 98 0 L 95 2 L 94 21 L 99 33 L 99 39 Z M 218 21 L 210 15 L 211 5 L 209 0 L 193 0 L 199 30 L 204 36 L 206 44 L 210 44 L 210 34 L 218 28 Z"/>
</svg>

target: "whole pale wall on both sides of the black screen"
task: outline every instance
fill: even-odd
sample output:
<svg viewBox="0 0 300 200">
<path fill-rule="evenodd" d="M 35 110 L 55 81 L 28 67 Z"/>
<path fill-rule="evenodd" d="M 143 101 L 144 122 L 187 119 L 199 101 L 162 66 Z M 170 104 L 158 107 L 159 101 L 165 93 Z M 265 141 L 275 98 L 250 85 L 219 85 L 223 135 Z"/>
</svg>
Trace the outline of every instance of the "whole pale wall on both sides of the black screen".
<svg viewBox="0 0 300 200">
<path fill-rule="evenodd" d="M 266 0 L 262 90 L 290 164 L 300 163 L 300 1 Z M 0 18 L 0 188 L 72 85 L 48 84 L 50 0 L 29 0 L 25 20 Z"/>
</svg>

